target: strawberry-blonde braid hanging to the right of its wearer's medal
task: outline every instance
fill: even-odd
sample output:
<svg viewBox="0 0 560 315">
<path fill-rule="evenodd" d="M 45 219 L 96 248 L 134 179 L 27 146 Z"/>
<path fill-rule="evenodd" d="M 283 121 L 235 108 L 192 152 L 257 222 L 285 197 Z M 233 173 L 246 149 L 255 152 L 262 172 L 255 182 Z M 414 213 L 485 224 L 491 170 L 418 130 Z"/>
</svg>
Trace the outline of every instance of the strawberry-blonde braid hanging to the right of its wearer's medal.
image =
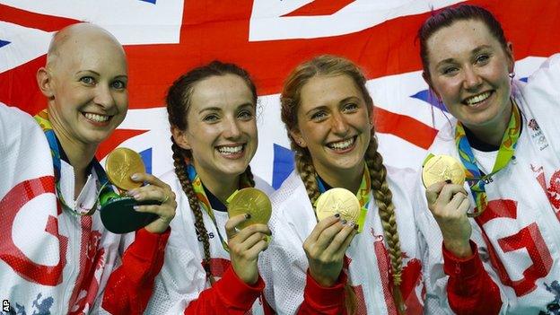
<svg viewBox="0 0 560 315">
<path fill-rule="evenodd" d="M 395 217 L 395 206 L 393 205 L 393 194 L 387 183 L 387 169 L 383 165 L 383 157 L 377 151 L 378 144 L 375 130 L 372 128 L 370 145 L 366 153 L 366 164 L 370 170 L 372 180 L 372 193 L 375 203 L 379 208 L 383 234 L 389 245 L 389 258 L 393 276 L 393 297 L 397 304 L 399 313 L 404 311 L 404 302 L 400 293 L 402 283 L 402 253 L 400 251 L 400 241 L 398 240 L 397 220 Z"/>
</svg>

